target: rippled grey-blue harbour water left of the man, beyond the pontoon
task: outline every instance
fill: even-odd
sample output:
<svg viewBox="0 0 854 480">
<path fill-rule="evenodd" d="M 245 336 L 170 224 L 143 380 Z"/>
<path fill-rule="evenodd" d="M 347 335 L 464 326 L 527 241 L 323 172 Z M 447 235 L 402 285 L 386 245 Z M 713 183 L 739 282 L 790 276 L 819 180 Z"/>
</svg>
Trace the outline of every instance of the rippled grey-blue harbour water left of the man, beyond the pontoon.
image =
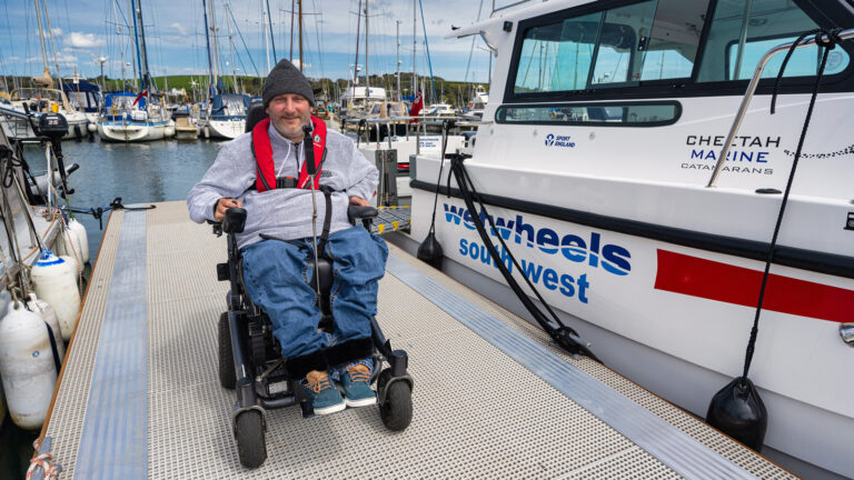
<svg viewBox="0 0 854 480">
<path fill-rule="evenodd" d="M 210 140 L 102 143 L 97 136 L 95 141 L 64 141 L 66 164 L 80 166 L 69 178 L 69 186 L 75 189 L 69 201 L 76 208 L 97 210 L 107 208 L 116 197 L 121 197 L 126 206 L 183 200 L 224 144 L 226 141 Z M 33 173 L 46 170 L 43 148 L 28 147 L 24 154 Z M 77 213 L 76 218 L 86 226 L 89 254 L 95 263 L 103 230 L 92 216 Z M 105 212 L 103 227 L 108 218 L 109 212 Z M 0 430 L 0 478 L 24 478 L 38 434 L 19 429 L 7 414 Z"/>
</svg>

